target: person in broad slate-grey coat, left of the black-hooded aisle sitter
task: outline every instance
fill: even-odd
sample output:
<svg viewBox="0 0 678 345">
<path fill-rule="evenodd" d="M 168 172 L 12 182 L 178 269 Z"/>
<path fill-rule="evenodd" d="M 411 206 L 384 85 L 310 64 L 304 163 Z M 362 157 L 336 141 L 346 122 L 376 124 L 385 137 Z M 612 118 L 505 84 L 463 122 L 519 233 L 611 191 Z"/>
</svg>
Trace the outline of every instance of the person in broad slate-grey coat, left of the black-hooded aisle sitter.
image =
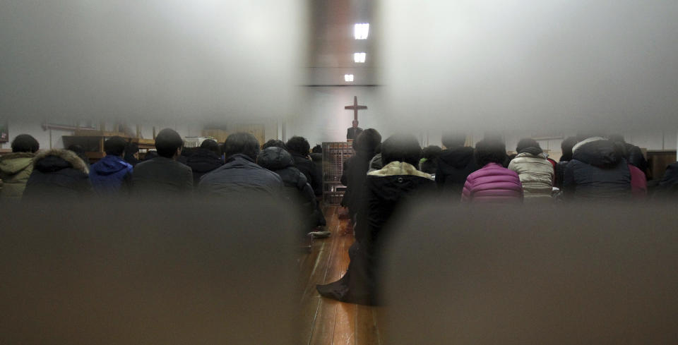
<svg viewBox="0 0 678 345">
<path fill-rule="evenodd" d="M 233 133 L 224 143 L 226 164 L 203 176 L 198 183 L 198 193 L 228 196 L 252 192 L 280 198 L 283 180 L 273 171 L 256 164 L 259 142 L 250 133 Z"/>
</svg>

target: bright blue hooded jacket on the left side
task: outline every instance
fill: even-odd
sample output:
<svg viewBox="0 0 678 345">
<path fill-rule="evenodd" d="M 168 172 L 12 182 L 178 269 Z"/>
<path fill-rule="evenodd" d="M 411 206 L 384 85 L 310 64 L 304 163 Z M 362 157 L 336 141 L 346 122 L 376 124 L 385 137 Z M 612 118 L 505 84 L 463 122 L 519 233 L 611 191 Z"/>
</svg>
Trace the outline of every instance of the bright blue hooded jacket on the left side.
<svg viewBox="0 0 678 345">
<path fill-rule="evenodd" d="M 132 165 L 119 156 L 107 155 L 90 167 L 90 182 L 99 195 L 119 193 L 129 184 L 132 175 Z"/>
</svg>

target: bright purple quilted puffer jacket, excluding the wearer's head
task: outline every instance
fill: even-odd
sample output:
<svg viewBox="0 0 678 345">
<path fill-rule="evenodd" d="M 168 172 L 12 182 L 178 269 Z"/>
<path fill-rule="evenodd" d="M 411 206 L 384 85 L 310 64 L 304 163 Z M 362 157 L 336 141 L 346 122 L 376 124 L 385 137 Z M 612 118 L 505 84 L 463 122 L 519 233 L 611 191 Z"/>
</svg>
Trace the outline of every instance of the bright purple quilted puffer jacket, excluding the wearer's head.
<svg viewBox="0 0 678 345">
<path fill-rule="evenodd" d="M 489 163 L 466 178 L 465 202 L 522 202 L 523 185 L 516 171 Z"/>
</svg>

